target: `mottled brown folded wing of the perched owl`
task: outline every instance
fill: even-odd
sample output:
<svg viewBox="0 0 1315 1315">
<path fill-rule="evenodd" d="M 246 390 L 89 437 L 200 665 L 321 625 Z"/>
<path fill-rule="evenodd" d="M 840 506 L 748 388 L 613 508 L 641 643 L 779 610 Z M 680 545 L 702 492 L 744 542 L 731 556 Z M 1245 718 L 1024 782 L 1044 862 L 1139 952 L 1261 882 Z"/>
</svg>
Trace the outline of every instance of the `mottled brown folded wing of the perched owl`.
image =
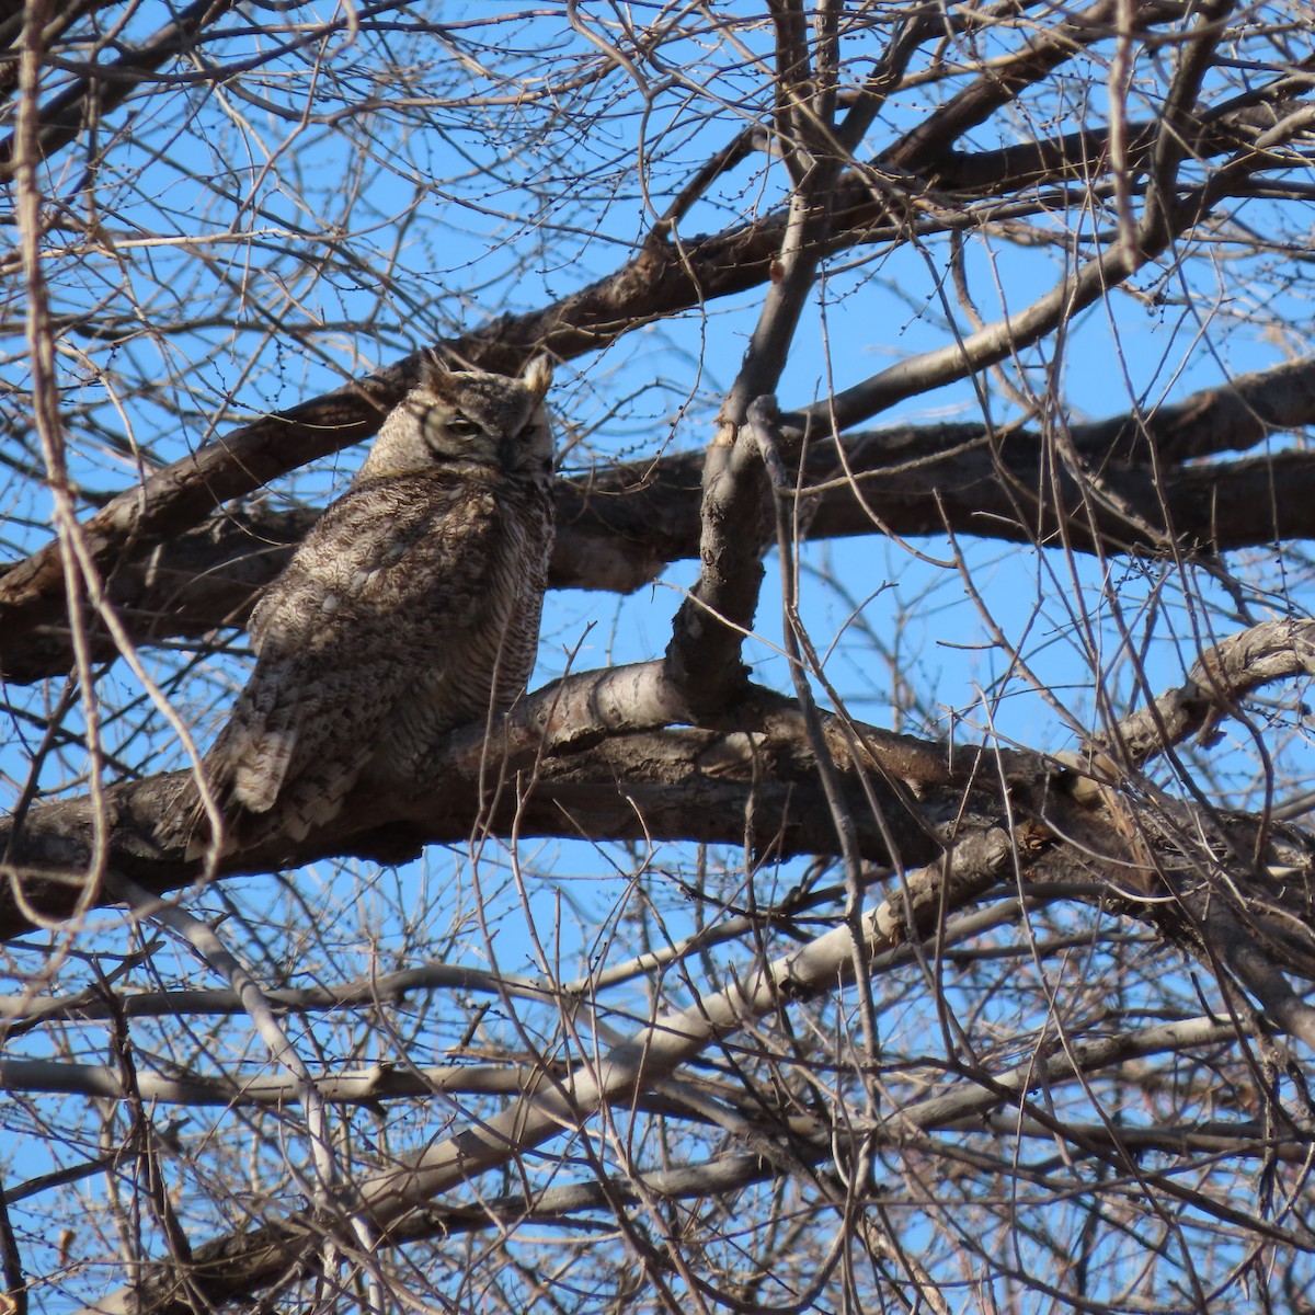
<svg viewBox="0 0 1315 1315">
<path fill-rule="evenodd" d="M 230 822 L 296 839 L 327 821 L 400 693 L 459 655 L 500 533 L 468 479 L 375 480 L 334 502 L 251 618 L 255 669 L 206 755 Z"/>
</svg>

